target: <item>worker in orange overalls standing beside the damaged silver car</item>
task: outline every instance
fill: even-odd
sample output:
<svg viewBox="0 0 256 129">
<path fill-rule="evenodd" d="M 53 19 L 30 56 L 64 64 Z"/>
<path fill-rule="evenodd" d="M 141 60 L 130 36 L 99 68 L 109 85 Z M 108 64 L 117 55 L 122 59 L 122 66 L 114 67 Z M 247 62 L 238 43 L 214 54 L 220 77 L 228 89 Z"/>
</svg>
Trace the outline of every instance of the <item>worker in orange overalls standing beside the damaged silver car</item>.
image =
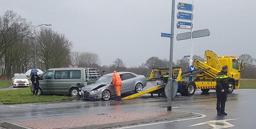
<svg viewBox="0 0 256 129">
<path fill-rule="evenodd" d="M 121 100 L 120 89 L 122 87 L 122 80 L 121 80 L 120 75 L 116 71 L 113 72 L 112 82 L 113 82 L 113 85 L 116 87 L 116 94 L 117 94 L 116 100 L 119 101 L 119 100 Z"/>
</svg>

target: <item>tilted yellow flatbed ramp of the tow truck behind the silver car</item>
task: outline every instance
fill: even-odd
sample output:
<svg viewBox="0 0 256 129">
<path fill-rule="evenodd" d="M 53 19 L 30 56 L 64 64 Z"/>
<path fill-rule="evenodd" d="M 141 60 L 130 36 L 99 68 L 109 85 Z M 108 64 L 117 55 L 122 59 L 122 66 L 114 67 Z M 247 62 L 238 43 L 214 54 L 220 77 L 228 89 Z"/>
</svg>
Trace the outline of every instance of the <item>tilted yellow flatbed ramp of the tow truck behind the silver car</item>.
<svg viewBox="0 0 256 129">
<path fill-rule="evenodd" d="M 122 98 L 122 100 L 133 99 L 133 98 L 136 98 L 140 95 L 144 95 L 146 93 L 151 93 L 153 91 L 159 90 L 159 89 L 164 87 L 164 84 L 158 84 L 158 83 L 161 83 L 161 82 L 162 82 L 161 80 L 148 79 L 147 80 L 147 86 L 143 89 L 142 92 L 135 93 L 133 95 L 129 95 L 127 97 Z"/>
</svg>

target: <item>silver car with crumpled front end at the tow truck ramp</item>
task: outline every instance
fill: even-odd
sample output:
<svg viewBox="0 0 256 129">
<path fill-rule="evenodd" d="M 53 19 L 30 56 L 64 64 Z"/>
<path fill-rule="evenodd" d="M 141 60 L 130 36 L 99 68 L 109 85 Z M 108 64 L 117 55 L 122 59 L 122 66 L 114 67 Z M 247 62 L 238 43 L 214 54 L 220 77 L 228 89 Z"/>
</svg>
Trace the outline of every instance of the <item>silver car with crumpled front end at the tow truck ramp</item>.
<svg viewBox="0 0 256 129">
<path fill-rule="evenodd" d="M 146 86 L 146 79 L 143 75 L 137 75 L 130 72 L 118 72 L 122 79 L 121 94 L 134 91 L 142 92 Z M 108 100 L 111 96 L 116 95 L 116 88 L 112 84 L 113 73 L 106 74 L 95 81 L 94 84 L 81 88 L 81 98 L 84 99 L 102 99 Z"/>
</svg>

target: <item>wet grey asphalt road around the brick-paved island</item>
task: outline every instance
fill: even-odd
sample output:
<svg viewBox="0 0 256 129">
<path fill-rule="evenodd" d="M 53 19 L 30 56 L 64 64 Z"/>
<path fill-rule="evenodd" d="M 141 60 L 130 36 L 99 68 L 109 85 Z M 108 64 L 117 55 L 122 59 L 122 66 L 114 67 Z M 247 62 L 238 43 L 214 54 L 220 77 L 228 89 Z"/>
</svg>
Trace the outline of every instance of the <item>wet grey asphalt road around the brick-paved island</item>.
<svg viewBox="0 0 256 129">
<path fill-rule="evenodd" d="M 216 95 L 214 90 L 210 90 L 209 94 L 202 94 L 201 91 L 196 91 L 193 96 L 181 96 L 178 94 L 172 103 L 174 109 L 201 113 L 206 115 L 206 117 L 194 120 L 146 125 L 129 129 L 213 129 L 209 124 L 198 126 L 191 125 L 205 121 L 223 119 L 235 119 L 227 121 L 233 125 L 233 127 L 230 127 L 229 129 L 256 129 L 255 98 L 256 89 L 234 90 L 233 94 L 228 95 L 226 103 L 226 112 L 228 115 L 217 116 L 215 107 Z M 154 98 L 151 98 L 150 94 L 145 94 L 136 99 L 125 101 L 74 100 L 59 103 L 0 105 L 0 123 L 6 121 L 68 116 L 76 117 L 77 115 L 100 115 L 102 113 L 111 112 L 139 112 L 147 109 L 162 109 L 166 108 L 166 101 L 166 98 L 157 97 L 156 94 L 154 95 Z M 225 125 L 229 125 L 228 123 Z M 222 123 L 215 122 L 215 124 L 218 125 Z"/>
</svg>

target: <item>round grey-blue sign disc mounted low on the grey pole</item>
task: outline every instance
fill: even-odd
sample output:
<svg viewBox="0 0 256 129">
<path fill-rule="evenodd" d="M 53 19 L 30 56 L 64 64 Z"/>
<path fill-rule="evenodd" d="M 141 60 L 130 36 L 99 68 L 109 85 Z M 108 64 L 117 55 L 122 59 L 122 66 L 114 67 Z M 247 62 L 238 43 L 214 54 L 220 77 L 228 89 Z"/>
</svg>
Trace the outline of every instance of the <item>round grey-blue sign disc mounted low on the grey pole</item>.
<svg viewBox="0 0 256 129">
<path fill-rule="evenodd" d="M 171 88 L 172 88 L 172 90 L 171 90 L 172 93 L 168 92 L 168 90 L 170 90 Z M 170 82 L 168 81 L 166 84 L 166 87 L 164 87 L 164 92 L 167 97 L 171 93 L 172 100 L 174 100 L 175 96 L 177 95 L 178 89 L 179 89 L 179 84 L 177 83 L 177 81 L 175 81 L 175 80 L 172 81 L 172 87 L 170 87 Z"/>
</svg>

